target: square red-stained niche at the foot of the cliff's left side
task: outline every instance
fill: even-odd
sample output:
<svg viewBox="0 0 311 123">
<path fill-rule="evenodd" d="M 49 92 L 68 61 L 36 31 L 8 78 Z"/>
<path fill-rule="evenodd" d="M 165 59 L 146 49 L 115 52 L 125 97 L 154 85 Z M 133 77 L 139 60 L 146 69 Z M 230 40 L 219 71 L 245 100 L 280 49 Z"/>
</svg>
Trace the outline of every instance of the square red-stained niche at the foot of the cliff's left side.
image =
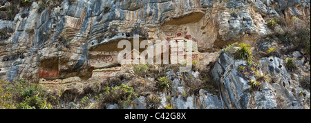
<svg viewBox="0 0 311 123">
<path fill-rule="evenodd" d="M 59 60 L 58 57 L 40 61 L 39 78 L 56 79 L 59 77 Z"/>
</svg>

